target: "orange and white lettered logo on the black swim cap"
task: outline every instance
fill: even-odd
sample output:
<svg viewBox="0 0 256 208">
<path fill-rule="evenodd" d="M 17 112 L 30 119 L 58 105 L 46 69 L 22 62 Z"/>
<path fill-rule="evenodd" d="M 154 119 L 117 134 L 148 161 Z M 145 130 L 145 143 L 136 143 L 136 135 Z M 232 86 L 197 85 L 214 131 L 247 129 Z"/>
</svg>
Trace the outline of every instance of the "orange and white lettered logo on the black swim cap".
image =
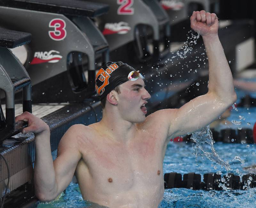
<svg viewBox="0 0 256 208">
<path fill-rule="evenodd" d="M 99 77 L 99 80 L 103 82 L 103 84 L 100 87 L 97 86 L 97 84 L 95 84 L 95 89 L 98 95 L 103 94 L 103 92 L 105 91 L 105 87 L 109 84 L 108 79 L 111 73 L 115 71 L 117 68 L 118 68 L 118 65 L 116 63 L 110 64 L 108 68 L 106 68 L 106 70 L 104 70 L 103 68 L 100 68 L 95 79 L 96 81 Z"/>
</svg>

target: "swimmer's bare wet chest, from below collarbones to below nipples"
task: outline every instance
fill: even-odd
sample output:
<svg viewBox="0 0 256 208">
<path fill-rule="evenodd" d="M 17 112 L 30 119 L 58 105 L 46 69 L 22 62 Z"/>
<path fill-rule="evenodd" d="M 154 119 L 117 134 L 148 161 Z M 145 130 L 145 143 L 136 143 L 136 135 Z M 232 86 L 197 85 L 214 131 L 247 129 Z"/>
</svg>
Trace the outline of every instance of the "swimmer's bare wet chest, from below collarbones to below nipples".
<svg viewBox="0 0 256 208">
<path fill-rule="evenodd" d="M 152 137 L 128 145 L 102 141 L 90 148 L 87 145 L 76 173 L 84 184 L 94 181 L 101 190 L 124 191 L 159 186 L 163 181 L 162 164 L 161 147 Z"/>
</svg>

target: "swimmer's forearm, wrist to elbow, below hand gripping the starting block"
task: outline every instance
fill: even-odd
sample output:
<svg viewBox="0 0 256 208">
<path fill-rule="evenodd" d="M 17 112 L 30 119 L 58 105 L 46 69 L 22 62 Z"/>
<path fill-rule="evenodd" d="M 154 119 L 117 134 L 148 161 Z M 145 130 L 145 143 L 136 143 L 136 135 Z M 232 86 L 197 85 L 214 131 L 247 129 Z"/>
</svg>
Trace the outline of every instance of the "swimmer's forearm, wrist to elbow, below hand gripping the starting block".
<svg viewBox="0 0 256 208">
<path fill-rule="evenodd" d="M 50 145 L 50 131 L 35 137 L 36 158 L 34 166 L 35 193 L 42 201 L 50 201 L 57 192 L 55 171 Z"/>
</svg>

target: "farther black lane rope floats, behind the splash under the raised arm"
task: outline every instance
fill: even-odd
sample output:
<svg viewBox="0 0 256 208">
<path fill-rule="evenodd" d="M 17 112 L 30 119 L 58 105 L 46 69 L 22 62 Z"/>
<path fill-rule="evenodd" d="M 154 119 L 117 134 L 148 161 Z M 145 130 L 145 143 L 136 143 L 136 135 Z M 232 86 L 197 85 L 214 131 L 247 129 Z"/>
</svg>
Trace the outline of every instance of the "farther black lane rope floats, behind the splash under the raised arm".
<svg viewBox="0 0 256 208">
<path fill-rule="evenodd" d="M 215 142 L 221 141 L 224 143 L 248 143 L 253 144 L 253 131 L 252 129 L 222 129 L 220 132 L 217 132 L 213 129 L 212 131 L 212 138 Z M 174 141 L 185 141 L 185 142 L 193 142 L 192 139 L 190 139 L 192 134 L 176 137 L 173 140 Z M 172 139 L 171 139 L 172 141 Z"/>
</svg>

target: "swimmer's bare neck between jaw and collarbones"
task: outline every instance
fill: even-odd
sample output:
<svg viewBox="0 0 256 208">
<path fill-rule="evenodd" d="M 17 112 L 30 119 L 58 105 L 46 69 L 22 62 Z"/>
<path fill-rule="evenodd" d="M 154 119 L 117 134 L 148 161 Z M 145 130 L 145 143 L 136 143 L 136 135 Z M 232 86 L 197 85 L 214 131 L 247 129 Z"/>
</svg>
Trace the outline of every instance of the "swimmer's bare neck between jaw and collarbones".
<svg viewBox="0 0 256 208">
<path fill-rule="evenodd" d="M 99 122 L 103 133 L 108 134 L 113 140 L 127 142 L 134 138 L 137 131 L 135 123 L 124 120 L 117 113 L 117 109 L 103 109 L 102 119 Z"/>
</svg>

